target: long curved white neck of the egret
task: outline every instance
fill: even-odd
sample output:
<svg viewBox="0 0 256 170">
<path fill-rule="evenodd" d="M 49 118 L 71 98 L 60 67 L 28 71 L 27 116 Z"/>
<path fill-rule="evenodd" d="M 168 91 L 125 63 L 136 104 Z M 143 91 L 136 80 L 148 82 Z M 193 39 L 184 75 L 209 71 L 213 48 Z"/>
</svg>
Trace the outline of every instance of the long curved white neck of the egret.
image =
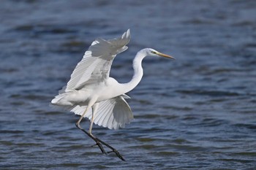
<svg viewBox="0 0 256 170">
<path fill-rule="evenodd" d="M 143 68 L 141 66 L 141 63 L 143 61 L 143 58 L 146 57 L 146 51 L 145 50 L 140 50 L 135 58 L 133 59 L 133 63 L 132 63 L 132 66 L 133 66 L 133 69 L 134 69 L 134 73 L 133 73 L 133 77 L 132 77 L 132 80 L 127 82 L 127 83 L 122 83 L 121 84 L 121 87 L 122 87 L 122 93 L 127 93 L 129 92 L 130 90 L 132 90 L 133 88 L 135 88 L 140 80 L 142 79 L 143 77 Z"/>
</svg>

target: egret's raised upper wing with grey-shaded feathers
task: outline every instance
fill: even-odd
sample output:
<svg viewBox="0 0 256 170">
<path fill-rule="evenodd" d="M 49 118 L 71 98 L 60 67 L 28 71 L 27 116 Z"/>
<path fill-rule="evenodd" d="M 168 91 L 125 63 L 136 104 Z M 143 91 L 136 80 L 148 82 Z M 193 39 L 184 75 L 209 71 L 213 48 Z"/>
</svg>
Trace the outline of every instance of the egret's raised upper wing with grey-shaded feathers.
<svg viewBox="0 0 256 170">
<path fill-rule="evenodd" d="M 127 50 L 129 29 L 118 39 L 96 39 L 75 67 L 64 91 L 78 90 L 83 85 L 102 82 L 109 77 L 110 66 L 118 53 Z"/>
</svg>

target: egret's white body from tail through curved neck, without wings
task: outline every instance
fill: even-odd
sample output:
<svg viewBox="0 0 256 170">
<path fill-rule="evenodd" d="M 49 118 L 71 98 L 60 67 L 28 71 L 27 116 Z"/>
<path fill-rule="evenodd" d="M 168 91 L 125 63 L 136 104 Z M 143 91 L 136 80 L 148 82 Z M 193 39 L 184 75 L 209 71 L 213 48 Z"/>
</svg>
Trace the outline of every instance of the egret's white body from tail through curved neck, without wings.
<svg viewBox="0 0 256 170">
<path fill-rule="evenodd" d="M 135 88 L 143 77 L 142 61 L 147 56 L 146 50 L 140 50 L 133 60 L 134 75 L 132 80 L 127 83 L 119 83 L 112 77 L 105 78 L 101 82 L 94 84 L 86 84 L 79 90 L 67 90 L 65 93 L 60 93 L 51 101 L 52 104 L 59 106 L 74 106 L 75 104 L 87 105 L 88 102 L 95 98 L 95 102 L 104 101 L 109 98 L 115 98 L 128 93 Z"/>
</svg>

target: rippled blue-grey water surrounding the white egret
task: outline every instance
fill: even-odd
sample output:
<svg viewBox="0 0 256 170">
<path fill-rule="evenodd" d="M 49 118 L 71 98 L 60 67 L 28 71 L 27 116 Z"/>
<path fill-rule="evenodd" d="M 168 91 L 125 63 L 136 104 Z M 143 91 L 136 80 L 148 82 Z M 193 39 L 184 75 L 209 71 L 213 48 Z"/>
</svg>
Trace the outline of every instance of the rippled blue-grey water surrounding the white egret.
<svg viewBox="0 0 256 170">
<path fill-rule="evenodd" d="M 3 0 L 0 19 L 0 169 L 255 169 L 255 1 Z M 146 58 L 126 128 L 94 125 L 123 162 L 48 104 L 95 38 L 127 28 L 119 82 L 143 47 L 176 61 Z"/>
</svg>

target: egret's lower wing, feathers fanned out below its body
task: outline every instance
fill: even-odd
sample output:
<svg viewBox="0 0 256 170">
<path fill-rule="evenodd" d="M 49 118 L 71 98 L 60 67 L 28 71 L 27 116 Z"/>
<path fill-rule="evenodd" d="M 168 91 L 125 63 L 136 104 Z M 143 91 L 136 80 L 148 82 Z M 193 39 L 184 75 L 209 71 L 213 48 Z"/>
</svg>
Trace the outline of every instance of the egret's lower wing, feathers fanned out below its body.
<svg viewBox="0 0 256 170">
<path fill-rule="evenodd" d="M 99 102 L 99 108 L 94 115 L 94 123 L 108 127 L 110 129 L 124 128 L 126 123 L 133 120 L 132 110 L 130 109 L 127 101 L 124 100 L 126 95 L 117 96 L 116 98 L 110 98 L 105 101 Z M 76 106 L 71 112 L 75 112 L 75 115 L 83 115 L 87 106 Z M 91 120 L 91 109 L 86 112 L 85 117 Z"/>
</svg>

